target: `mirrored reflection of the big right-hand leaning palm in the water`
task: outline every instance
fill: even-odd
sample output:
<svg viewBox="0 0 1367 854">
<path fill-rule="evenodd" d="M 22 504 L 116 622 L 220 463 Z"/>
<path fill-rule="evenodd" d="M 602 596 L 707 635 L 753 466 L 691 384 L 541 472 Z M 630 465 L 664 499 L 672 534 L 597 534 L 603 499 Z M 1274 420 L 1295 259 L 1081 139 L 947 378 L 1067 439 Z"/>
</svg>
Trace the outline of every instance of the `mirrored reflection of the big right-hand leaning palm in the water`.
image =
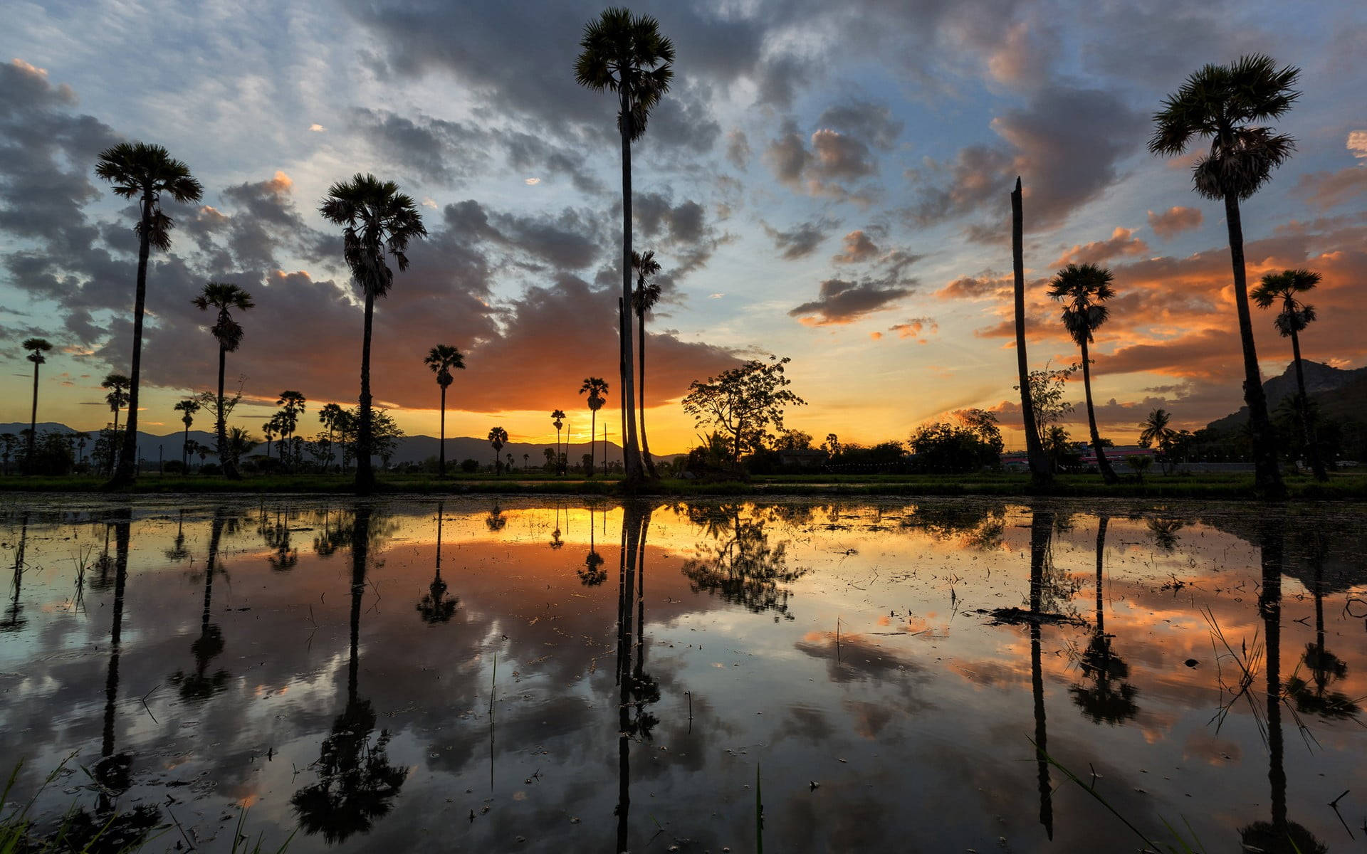
<svg viewBox="0 0 1367 854">
<path fill-rule="evenodd" d="M 1271 784 L 1271 821 L 1254 821 L 1239 831 L 1244 850 L 1269 854 L 1323 854 L 1329 849 L 1295 821 L 1286 818 L 1286 769 L 1282 765 L 1281 728 L 1281 575 L 1282 530 L 1273 522 L 1259 532 L 1263 586 L 1258 611 L 1267 637 L 1267 780 Z"/>
</svg>

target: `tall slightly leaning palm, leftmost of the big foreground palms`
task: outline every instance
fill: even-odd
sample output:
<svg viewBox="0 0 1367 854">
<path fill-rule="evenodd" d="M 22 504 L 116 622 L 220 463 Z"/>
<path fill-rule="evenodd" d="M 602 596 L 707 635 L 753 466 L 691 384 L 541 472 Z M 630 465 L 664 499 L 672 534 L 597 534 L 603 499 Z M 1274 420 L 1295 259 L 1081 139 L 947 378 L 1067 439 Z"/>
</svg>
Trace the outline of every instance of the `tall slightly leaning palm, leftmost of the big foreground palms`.
<svg viewBox="0 0 1367 854">
<path fill-rule="evenodd" d="M 204 187 L 190 167 L 160 145 L 120 142 L 100 152 L 94 174 L 112 184 L 115 195 L 138 199 L 138 280 L 133 298 L 133 359 L 128 365 L 128 429 L 111 486 L 127 486 L 137 477 L 138 387 L 142 377 L 142 310 L 148 302 L 148 256 L 152 247 L 171 249 L 171 217 L 161 212 L 161 194 L 186 204 L 200 201 Z"/>
</svg>

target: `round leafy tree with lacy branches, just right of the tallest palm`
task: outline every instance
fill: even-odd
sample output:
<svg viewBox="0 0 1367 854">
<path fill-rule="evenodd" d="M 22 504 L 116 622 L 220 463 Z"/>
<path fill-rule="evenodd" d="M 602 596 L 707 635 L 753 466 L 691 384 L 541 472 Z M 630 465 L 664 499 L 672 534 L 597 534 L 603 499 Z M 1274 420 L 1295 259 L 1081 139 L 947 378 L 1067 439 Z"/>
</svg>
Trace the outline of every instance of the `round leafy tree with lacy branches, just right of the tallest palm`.
<svg viewBox="0 0 1367 854">
<path fill-rule="evenodd" d="M 733 466 L 740 462 L 742 440 L 763 435 L 771 424 L 782 430 L 783 407 L 807 406 L 807 400 L 787 389 L 791 380 L 783 376 L 783 366 L 790 361 L 775 355 L 768 362 L 752 359 L 705 383 L 689 384 L 684 410 L 697 426 L 711 425 L 730 436 Z"/>
</svg>

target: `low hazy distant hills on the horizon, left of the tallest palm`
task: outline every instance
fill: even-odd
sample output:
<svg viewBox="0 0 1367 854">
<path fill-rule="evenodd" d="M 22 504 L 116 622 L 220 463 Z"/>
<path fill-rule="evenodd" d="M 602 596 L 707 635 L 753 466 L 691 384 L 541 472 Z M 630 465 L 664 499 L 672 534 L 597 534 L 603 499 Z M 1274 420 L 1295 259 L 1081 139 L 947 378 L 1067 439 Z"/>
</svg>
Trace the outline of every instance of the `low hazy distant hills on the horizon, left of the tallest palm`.
<svg viewBox="0 0 1367 854">
<path fill-rule="evenodd" d="M 21 430 L 26 430 L 26 429 L 29 429 L 29 422 L 27 421 L 25 421 L 22 424 L 21 422 L 0 424 L 0 433 L 14 433 L 14 435 L 18 436 L 21 433 Z M 57 424 L 57 422 L 52 422 L 52 421 L 40 421 L 38 422 L 38 432 L 42 433 L 42 432 L 46 432 L 46 430 L 59 430 L 59 432 L 63 432 L 63 433 L 75 433 L 77 432 L 77 430 L 68 428 L 64 424 Z M 93 436 L 94 436 L 93 430 L 87 430 L 87 432 L 92 435 L 92 443 L 86 444 L 86 447 L 85 447 L 86 455 L 90 454 L 92 444 L 93 444 Z M 156 459 L 157 459 L 157 450 L 160 447 L 160 452 L 161 452 L 161 458 L 163 459 L 167 459 L 167 460 L 180 459 L 180 443 L 183 441 L 183 439 L 185 439 L 185 432 L 183 430 L 176 430 L 174 433 L 165 433 L 164 436 L 156 436 L 153 433 L 145 433 L 142 430 L 138 430 L 138 455 L 142 459 L 145 459 L 145 460 L 156 462 Z M 208 445 L 211 448 L 215 447 L 215 444 L 217 443 L 217 439 L 215 437 L 215 435 L 209 433 L 208 430 L 190 430 L 190 439 L 193 439 L 194 441 L 198 441 L 200 444 Z M 439 445 L 439 440 L 437 440 L 436 436 L 405 436 L 403 439 L 399 440 L 398 447 L 396 447 L 396 450 L 394 452 L 394 456 L 391 458 L 390 462 L 391 463 L 416 463 L 416 462 L 422 462 L 424 459 L 427 459 L 429 456 L 436 456 L 437 445 Z M 550 448 L 550 447 L 555 447 L 555 443 L 552 441 L 550 444 L 534 444 L 534 443 L 529 443 L 529 441 L 510 441 L 509 444 L 503 445 L 503 451 L 502 451 L 500 455 L 503 456 L 504 460 L 507 460 L 507 455 L 511 454 L 515 466 L 521 467 L 522 463 L 524 463 L 522 455 L 526 454 L 529 456 L 529 460 L 528 460 L 529 465 L 532 465 L 532 466 L 541 466 L 541 465 L 545 465 L 545 451 L 544 451 L 544 448 Z M 596 452 L 596 458 L 600 462 L 603 459 L 603 447 L 604 445 L 600 441 L 597 444 L 597 452 Z M 586 443 L 586 441 L 577 441 L 577 443 L 570 443 L 569 444 L 569 447 L 566 450 L 566 456 L 569 458 L 569 460 L 570 460 L 571 465 L 577 465 L 578 460 L 580 460 L 580 458 L 584 454 L 588 454 L 588 452 L 589 452 L 589 443 Z M 256 455 L 256 454 L 265 454 L 265 443 L 258 444 L 256 448 L 253 448 L 253 451 L 252 451 L 250 455 Z M 272 455 L 273 454 L 275 454 L 275 451 L 272 451 Z M 674 458 L 674 455 L 667 455 L 666 456 L 666 455 L 660 455 L 660 454 L 653 454 L 652 456 L 655 456 L 655 459 L 673 459 Z M 217 456 L 213 455 L 213 454 L 209 454 L 206 459 L 209 462 L 216 462 Z M 489 445 L 488 440 L 485 440 L 485 439 L 476 439 L 473 436 L 454 436 L 454 437 L 448 437 L 446 440 L 446 460 L 447 460 L 447 463 L 448 465 L 451 465 L 451 463 L 459 465 L 459 462 L 462 459 L 477 459 L 481 466 L 489 465 L 489 463 L 493 462 L 493 448 Z M 621 448 L 621 445 L 618 445 L 618 444 L 615 444 L 612 441 L 608 441 L 607 443 L 607 459 L 608 459 L 608 462 L 622 462 L 622 448 Z"/>
</svg>

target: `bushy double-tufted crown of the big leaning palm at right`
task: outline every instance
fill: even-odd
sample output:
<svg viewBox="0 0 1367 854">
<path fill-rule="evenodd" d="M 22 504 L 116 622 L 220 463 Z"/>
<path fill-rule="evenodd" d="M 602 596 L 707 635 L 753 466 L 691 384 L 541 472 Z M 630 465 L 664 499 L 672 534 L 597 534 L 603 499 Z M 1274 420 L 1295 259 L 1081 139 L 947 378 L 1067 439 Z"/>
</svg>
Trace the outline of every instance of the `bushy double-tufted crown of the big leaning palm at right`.
<svg viewBox="0 0 1367 854">
<path fill-rule="evenodd" d="M 1300 68 L 1278 68 L 1262 53 L 1229 66 L 1204 66 L 1154 115 L 1156 127 L 1148 150 L 1181 154 L 1192 137 L 1210 137 L 1210 153 L 1192 168 L 1196 191 L 1213 199 L 1226 193 L 1247 199 L 1296 148 L 1289 135 L 1252 123 L 1277 119 L 1290 109 L 1300 97 L 1292 89 L 1297 77 Z"/>
</svg>

